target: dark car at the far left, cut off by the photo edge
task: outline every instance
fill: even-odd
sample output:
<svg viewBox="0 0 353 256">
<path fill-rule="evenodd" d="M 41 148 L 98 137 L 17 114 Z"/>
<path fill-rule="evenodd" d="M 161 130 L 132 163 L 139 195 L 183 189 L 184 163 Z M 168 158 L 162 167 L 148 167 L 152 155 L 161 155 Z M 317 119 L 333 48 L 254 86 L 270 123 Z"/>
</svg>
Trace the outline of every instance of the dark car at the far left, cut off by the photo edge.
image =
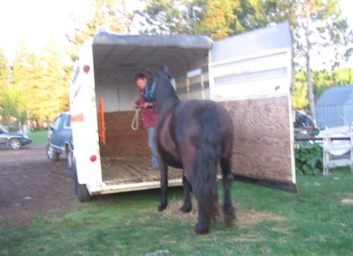
<svg viewBox="0 0 353 256">
<path fill-rule="evenodd" d="M 32 139 L 28 134 L 21 132 L 8 132 L 5 127 L 0 126 L 0 147 L 8 147 L 11 149 L 20 149 L 21 146 L 31 144 Z"/>
</svg>

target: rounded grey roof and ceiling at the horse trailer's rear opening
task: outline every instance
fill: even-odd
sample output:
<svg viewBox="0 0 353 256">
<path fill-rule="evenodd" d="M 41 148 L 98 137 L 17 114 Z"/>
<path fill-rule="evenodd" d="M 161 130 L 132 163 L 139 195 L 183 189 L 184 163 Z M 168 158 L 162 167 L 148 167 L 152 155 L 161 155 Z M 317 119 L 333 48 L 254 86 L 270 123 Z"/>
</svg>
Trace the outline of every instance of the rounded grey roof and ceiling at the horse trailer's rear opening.
<svg viewBox="0 0 353 256">
<path fill-rule="evenodd" d="M 93 37 L 95 68 L 169 68 L 172 75 L 208 63 L 213 40 L 204 35 L 120 35 L 100 30 Z"/>
</svg>

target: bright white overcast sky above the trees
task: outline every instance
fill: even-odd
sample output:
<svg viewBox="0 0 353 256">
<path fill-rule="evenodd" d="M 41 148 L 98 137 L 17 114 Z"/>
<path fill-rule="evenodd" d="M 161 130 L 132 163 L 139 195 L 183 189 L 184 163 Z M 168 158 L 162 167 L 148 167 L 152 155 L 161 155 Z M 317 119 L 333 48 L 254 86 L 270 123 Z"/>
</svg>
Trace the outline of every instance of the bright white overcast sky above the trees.
<svg viewBox="0 0 353 256">
<path fill-rule="evenodd" d="M 79 15 L 88 4 L 88 0 L 0 0 L 0 47 L 8 61 L 16 57 L 23 38 L 32 52 L 41 52 L 52 35 L 59 42 L 67 43 L 64 35 L 73 28 L 68 13 Z M 126 0 L 126 4 L 128 10 L 141 6 L 139 0 Z M 352 28 L 353 0 L 340 0 L 340 5 Z M 345 66 L 353 68 L 353 57 Z"/>
</svg>

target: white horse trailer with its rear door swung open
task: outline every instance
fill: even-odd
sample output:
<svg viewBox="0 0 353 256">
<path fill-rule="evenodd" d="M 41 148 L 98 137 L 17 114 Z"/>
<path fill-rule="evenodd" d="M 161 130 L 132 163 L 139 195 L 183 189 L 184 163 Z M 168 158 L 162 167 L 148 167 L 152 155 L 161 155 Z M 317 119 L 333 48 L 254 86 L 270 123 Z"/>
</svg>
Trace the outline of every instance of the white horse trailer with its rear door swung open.
<svg viewBox="0 0 353 256">
<path fill-rule="evenodd" d="M 71 78 L 73 170 L 81 202 L 91 195 L 160 187 L 148 134 L 133 131 L 134 76 L 167 66 L 181 100 L 211 99 L 234 122 L 234 180 L 297 192 L 288 23 L 213 42 L 202 35 L 118 35 L 84 42 Z M 104 106 L 103 106 L 104 105 Z M 182 170 L 169 168 L 169 186 Z"/>
</svg>

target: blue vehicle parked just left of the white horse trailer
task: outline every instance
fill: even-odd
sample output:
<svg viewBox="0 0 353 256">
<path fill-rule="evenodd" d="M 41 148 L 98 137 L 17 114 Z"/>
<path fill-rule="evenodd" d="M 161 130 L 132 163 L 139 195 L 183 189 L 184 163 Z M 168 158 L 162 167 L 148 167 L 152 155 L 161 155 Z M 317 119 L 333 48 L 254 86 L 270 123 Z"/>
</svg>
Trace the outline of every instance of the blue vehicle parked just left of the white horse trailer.
<svg viewBox="0 0 353 256">
<path fill-rule="evenodd" d="M 60 154 L 67 156 L 68 167 L 72 166 L 72 129 L 70 112 L 62 112 L 56 118 L 54 127 L 47 127 L 49 131 L 47 142 L 47 157 L 50 161 L 58 161 Z"/>
</svg>

